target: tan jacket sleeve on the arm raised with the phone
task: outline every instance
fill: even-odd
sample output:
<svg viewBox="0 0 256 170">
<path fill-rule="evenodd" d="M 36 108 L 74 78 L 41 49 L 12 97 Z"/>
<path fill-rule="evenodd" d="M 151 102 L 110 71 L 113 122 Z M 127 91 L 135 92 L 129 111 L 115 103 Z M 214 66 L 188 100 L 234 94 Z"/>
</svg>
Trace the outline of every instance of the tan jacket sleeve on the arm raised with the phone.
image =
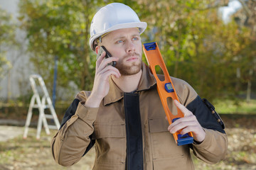
<svg viewBox="0 0 256 170">
<path fill-rule="evenodd" d="M 94 131 L 98 108 L 84 106 L 86 93 L 80 92 L 68 108 L 60 130 L 53 137 L 51 152 L 55 162 L 63 166 L 71 166 L 78 162 L 90 149 L 91 135 Z"/>
</svg>

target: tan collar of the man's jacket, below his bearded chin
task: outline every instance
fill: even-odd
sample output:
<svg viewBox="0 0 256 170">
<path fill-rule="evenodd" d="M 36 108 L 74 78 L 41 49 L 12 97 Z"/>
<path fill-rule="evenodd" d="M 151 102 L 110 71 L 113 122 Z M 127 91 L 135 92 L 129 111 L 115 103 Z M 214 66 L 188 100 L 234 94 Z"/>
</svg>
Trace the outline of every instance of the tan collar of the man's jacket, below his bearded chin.
<svg viewBox="0 0 256 170">
<path fill-rule="evenodd" d="M 110 91 L 103 99 L 104 106 L 114 103 L 116 101 L 119 101 L 124 97 L 124 91 L 119 89 L 117 84 L 114 83 L 112 78 L 109 79 L 110 82 Z M 142 62 L 142 77 L 139 80 L 139 86 L 137 91 L 144 91 L 151 89 L 152 86 L 156 84 L 156 79 L 154 78 L 154 75 L 151 73 L 149 67 Z"/>
</svg>

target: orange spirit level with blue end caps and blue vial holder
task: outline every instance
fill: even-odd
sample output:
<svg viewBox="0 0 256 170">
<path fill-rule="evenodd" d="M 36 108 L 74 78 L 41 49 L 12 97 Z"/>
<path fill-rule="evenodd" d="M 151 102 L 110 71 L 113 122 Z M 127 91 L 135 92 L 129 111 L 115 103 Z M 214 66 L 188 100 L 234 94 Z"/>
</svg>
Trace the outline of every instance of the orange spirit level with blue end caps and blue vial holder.
<svg viewBox="0 0 256 170">
<path fill-rule="evenodd" d="M 166 69 L 166 65 L 164 64 L 164 60 L 161 57 L 161 53 L 159 51 L 159 47 L 156 42 L 149 42 L 143 45 L 143 51 L 146 56 L 146 60 L 149 64 L 149 68 L 151 72 L 154 74 L 156 79 L 157 91 L 159 92 L 159 96 L 161 98 L 161 103 L 164 106 L 164 111 L 166 113 L 166 117 L 169 121 L 169 124 L 174 123 L 178 118 L 184 117 L 183 113 L 177 108 L 177 114 L 174 115 L 171 113 L 169 106 L 167 105 L 167 98 L 171 97 L 173 100 L 178 100 L 178 96 L 174 89 L 174 84 L 171 81 L 169 73 Z M 161 67 L 164 72 L 164 81 L 161 81 L 159 77 L 156 75 L 156 66 Z M 174 139 L 178 146 L 186 145 L 193 143 L 193 135 L 192 132 L 188 132 L 185 135 L 181 135 L 181 130 L 174 133 Z"/>
</svg>

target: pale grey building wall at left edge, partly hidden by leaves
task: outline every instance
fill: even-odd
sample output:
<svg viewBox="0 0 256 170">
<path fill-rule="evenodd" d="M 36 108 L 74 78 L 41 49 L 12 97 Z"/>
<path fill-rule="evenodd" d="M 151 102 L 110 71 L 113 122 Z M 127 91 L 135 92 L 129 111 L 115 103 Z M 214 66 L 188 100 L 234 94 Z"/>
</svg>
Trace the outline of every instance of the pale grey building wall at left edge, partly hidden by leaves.
<svg viewBox="0 0 256 170">
<path fill-rule="evenodd" d="M 18 0 L 0 0 L 0 7 L 10 13 L 15 22 L 18 22 Z M 23 96 L 31 91 L 29 75 L 33 74 L 33 67 L 26 54 L 26 34 L 21 30 L 16 30 L 16 39 L 22 42 L 20 49 L 7 48 L 6 59 L 11 62 L 11 69 L 0 79 L 0 101 L 7 101 L 18 96 Z"/>
</svg>

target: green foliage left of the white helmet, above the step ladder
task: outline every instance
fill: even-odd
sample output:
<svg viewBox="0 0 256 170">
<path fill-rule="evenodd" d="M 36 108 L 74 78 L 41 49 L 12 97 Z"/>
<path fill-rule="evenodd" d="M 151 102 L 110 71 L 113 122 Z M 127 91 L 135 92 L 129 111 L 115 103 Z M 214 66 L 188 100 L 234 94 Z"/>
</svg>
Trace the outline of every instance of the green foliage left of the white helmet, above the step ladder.
<svg viewBox="0 0 256 170">
<path fill-rule="evenodd" d="M 102 1 L 22 0 L 21 28 L 26 30 L 28 50 L 36 72 L 48 86 L 53 82 L 54 57 L 58 56 L 58 86 L 92 87 L 95 55 L 90 51 L 90 21 Z"/>
</svg>

